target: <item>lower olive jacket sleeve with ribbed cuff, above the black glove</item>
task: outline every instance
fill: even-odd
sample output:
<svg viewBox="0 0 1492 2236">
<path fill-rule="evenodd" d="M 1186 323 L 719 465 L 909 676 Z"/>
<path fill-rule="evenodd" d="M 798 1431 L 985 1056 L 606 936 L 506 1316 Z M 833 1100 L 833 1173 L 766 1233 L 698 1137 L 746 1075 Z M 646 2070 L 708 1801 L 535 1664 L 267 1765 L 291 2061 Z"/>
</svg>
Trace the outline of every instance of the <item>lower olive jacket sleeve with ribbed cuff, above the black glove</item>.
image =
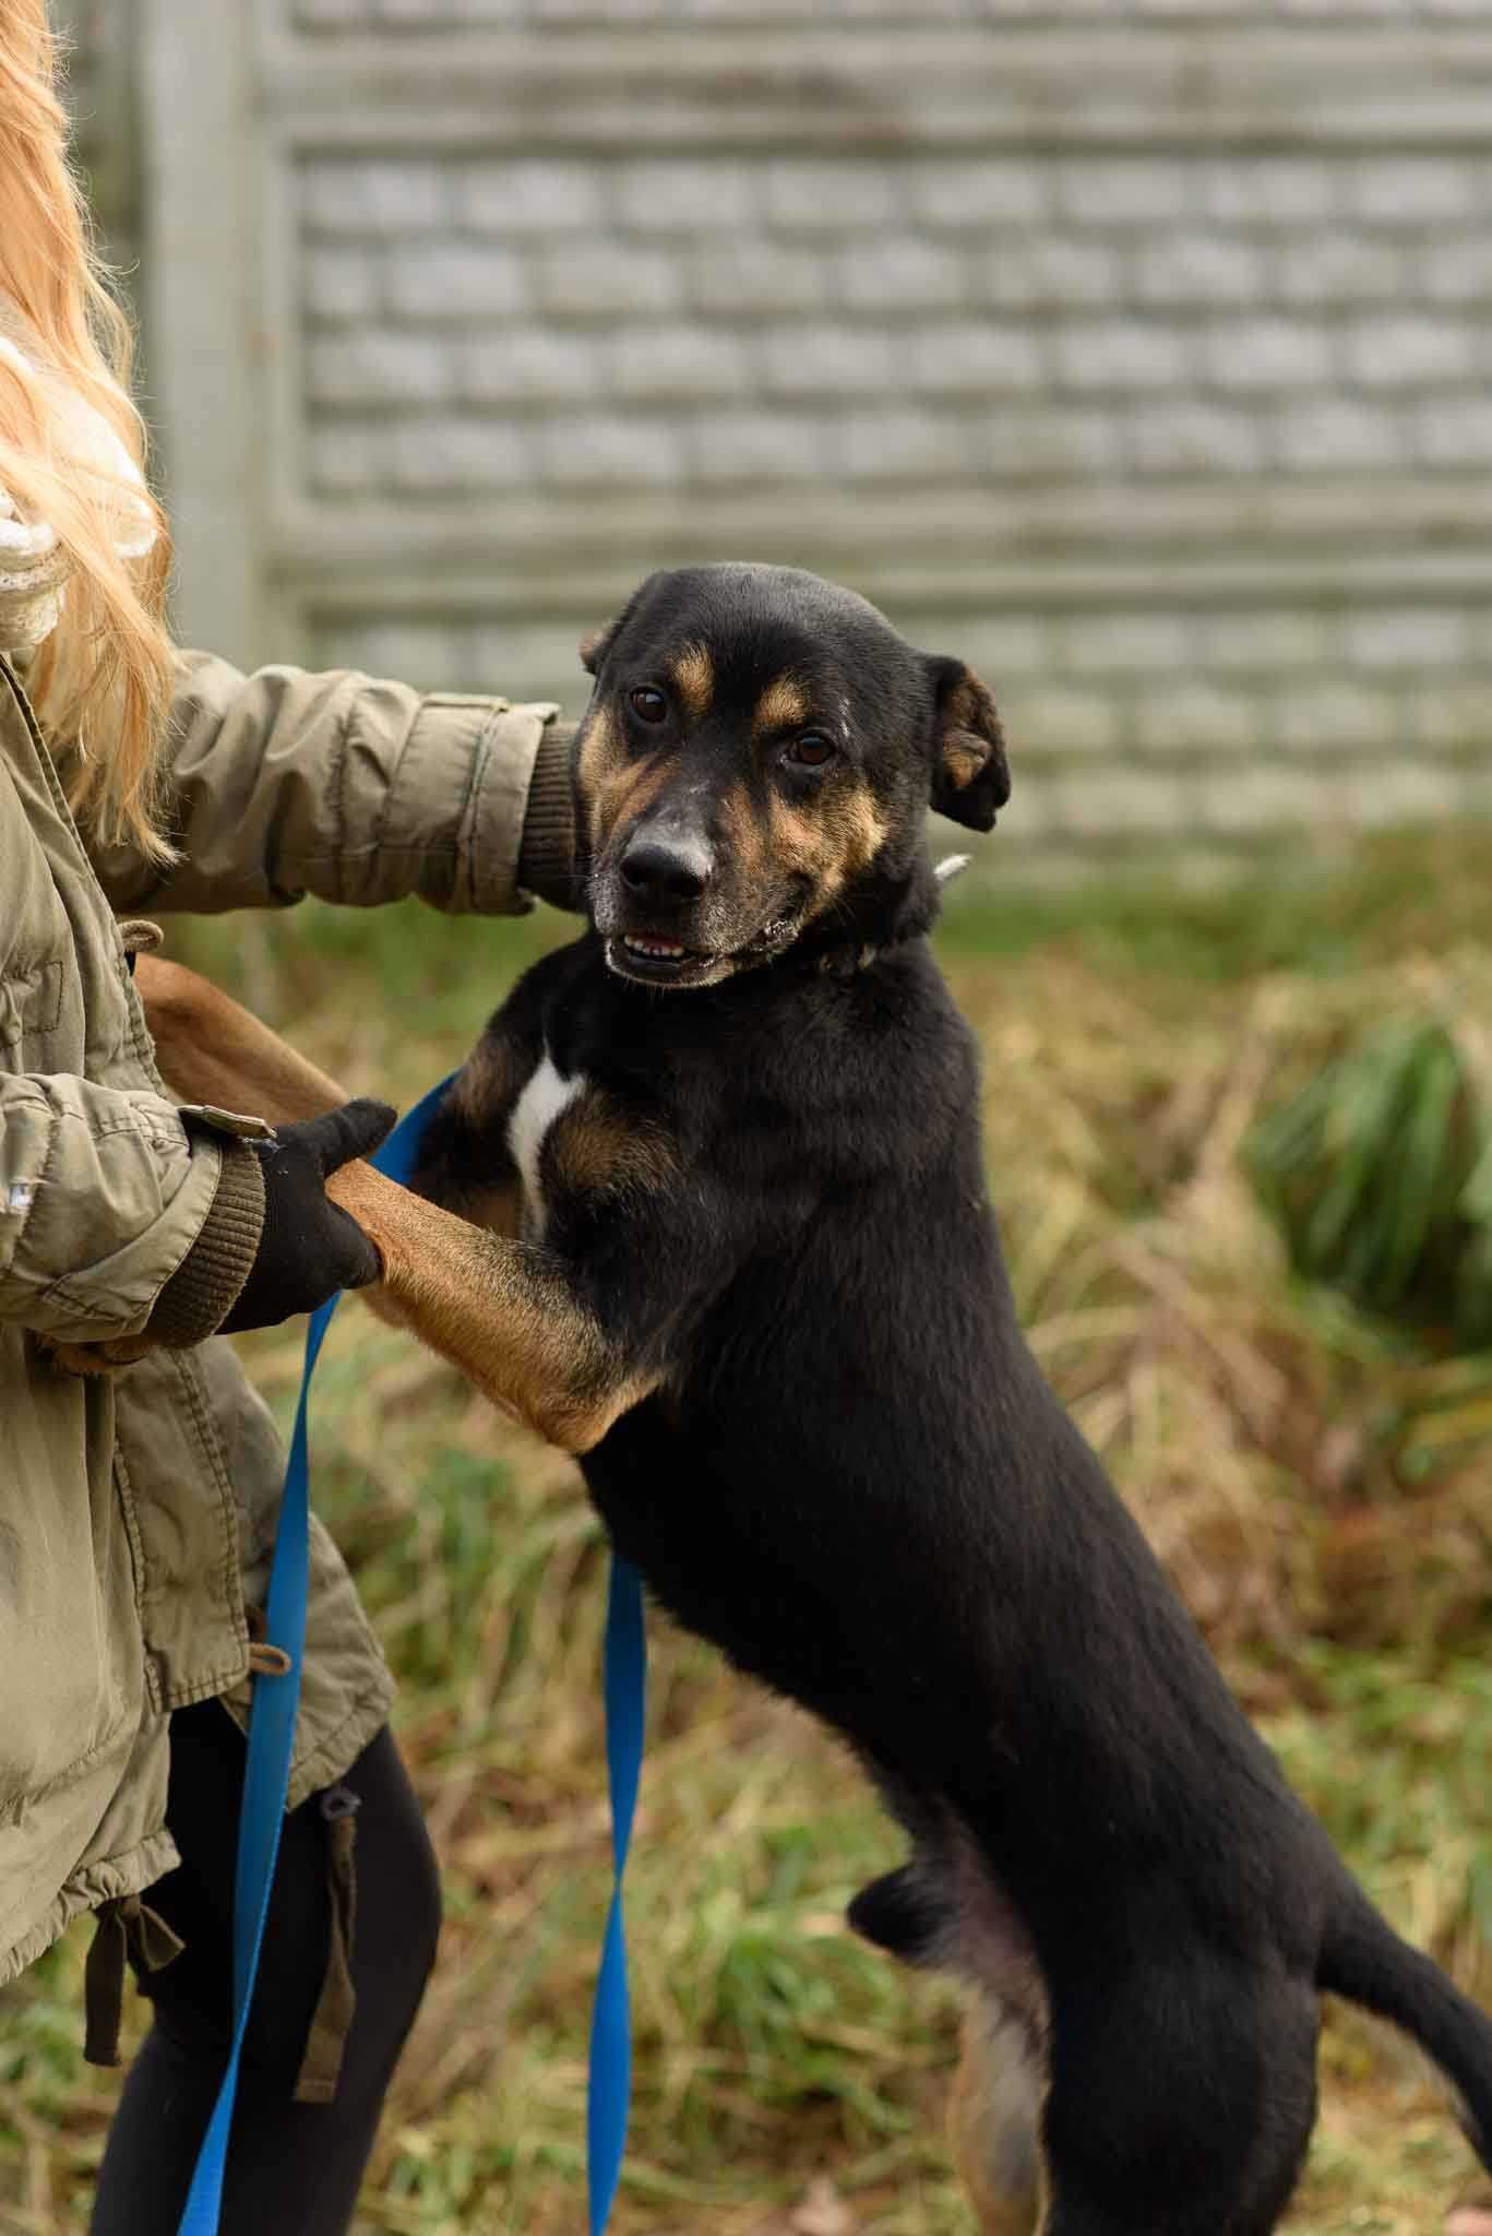
<svg viewBox="0 0 1492 2236">
<path fill-rule="evenodd" d="M 195 1344 L 264 1225 L 257 1156 L 163 1096 L 0 1076 L 0 1321 L 67 1344 Z"/>
</svg>

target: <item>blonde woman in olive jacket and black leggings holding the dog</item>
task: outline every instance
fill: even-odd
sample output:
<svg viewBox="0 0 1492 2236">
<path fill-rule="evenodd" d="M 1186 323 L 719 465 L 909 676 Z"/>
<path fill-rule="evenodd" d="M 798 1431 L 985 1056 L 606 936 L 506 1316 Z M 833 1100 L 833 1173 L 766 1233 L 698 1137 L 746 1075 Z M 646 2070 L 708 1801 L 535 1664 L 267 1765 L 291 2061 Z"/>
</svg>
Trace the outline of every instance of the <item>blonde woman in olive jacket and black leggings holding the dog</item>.
<svg viewBox="0 0 1492 2236">
<path fill-rule="evenodd" d="M 282 1456 L 217 1330 L 367 1281 L 324 1174 L 380 1105 L 273 1156 L 154 1071 L 134 912 L 568 897 L 548 709 L 179 657 L 168 532 L 87 253 L 43 0 L 0 9 L 0 1983 L 83 1912 L 87 2053 L 154 2001 L 94 2229 L 177 2225 L 228 2033 L 239 1719 Z M 47 1346 L 150 1330 L 119 1375 Z M 224 2229 L 344 2229 L 434 1957 L 389 1679 L 318 1532 L 289 1818 Z M 356 1834 L 356 1840 L 353 1840 Z M 356 1863 L 356 1934 L 351 1892 Z"/>
</svg>

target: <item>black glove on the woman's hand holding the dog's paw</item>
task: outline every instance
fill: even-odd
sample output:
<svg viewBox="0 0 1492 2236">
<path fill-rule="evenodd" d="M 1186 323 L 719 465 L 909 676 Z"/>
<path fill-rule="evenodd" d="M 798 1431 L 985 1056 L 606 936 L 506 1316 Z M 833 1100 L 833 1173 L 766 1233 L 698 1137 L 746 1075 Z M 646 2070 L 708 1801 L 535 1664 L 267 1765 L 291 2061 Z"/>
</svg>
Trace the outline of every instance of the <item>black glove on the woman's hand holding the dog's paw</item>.
<svg viewBox="0 0 1492 2236">
<path fill-rule="evenodd" d="M 313 1313 L 338 1288 L 367 1288 L 380 1275 L 374 1243 L 356 1219 L 327 1196 L 327 1174 L 353 1156 L 371 1156 L 391 1131 L 387 1102 L 344 1102 L 340 1111 L 282 1125 L 273 1143 L 244 1143 L 264 1174 L 264 1230 L 248 1279 L 221 1335 L 273 1328 L 293 1313 Z"/>
</svg>

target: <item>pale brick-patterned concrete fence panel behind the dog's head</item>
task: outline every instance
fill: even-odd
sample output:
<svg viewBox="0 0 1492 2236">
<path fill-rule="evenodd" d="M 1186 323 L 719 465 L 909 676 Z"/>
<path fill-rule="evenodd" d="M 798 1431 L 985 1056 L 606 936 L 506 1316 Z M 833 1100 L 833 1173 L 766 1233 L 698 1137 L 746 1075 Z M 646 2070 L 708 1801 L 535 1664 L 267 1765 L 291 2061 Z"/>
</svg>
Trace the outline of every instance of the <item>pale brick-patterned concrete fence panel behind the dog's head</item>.
<svg viewBox="0 0 1492 2236">
<path fill-rule="evenodd" d="M 1002 859 L 1492 809 L 1485 11 L 262 0 L 255 72 L 304 655 L 575 702 L 646 566 L 785 557 L 989 675 Z"/>
</svg>

